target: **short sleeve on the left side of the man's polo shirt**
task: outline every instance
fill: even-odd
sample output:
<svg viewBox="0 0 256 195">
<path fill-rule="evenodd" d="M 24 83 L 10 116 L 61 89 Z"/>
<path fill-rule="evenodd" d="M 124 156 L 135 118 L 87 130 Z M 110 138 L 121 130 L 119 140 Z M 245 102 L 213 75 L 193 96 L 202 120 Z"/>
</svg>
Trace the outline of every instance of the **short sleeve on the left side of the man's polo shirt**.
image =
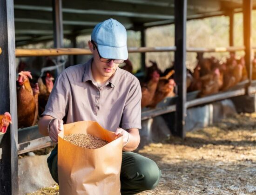
<svg viewBox="0 0 256 195">
<path fill-rule="evenodd" d="M 42 115 L 49 115 L 51 117 L 60 119 L 65 117 L 70 98 L 69 94 L 70 82 L 65 71 L 63 71 L 54 83 L 54 88 L 50 93 L 45 111 L 42 113 Z"/>
</svg>

